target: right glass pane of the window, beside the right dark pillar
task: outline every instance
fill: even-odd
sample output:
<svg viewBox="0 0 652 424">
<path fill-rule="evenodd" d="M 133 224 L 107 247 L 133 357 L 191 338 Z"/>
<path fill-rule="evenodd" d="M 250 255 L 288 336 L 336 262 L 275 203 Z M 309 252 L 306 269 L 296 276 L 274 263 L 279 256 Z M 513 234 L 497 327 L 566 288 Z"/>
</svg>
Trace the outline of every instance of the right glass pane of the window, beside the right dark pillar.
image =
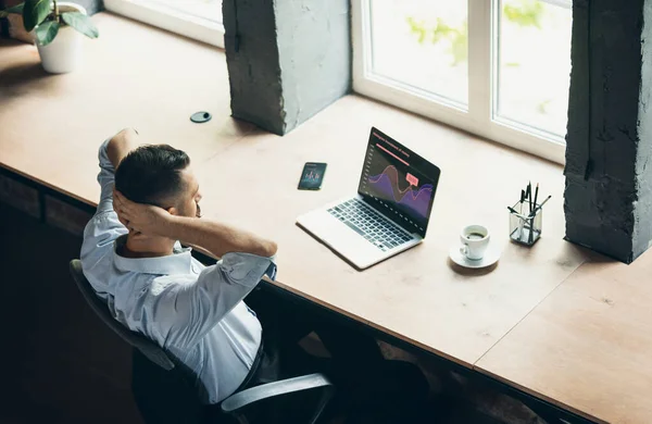
<svg viewBox="0 0 652 424">
<path fill-rule="evenodd" d="M 503 0 L 499 15 L 494 117 L 566 134 L 570 7 Z"/>
</svg>

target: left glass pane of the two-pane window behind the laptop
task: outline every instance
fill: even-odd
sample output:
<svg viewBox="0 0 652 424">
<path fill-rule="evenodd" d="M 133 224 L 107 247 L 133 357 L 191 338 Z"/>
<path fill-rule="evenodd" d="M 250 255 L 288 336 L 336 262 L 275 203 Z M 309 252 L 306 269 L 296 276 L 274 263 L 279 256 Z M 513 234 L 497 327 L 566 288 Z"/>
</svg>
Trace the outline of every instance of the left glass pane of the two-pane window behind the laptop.
<svg viewBox="0 0 652 424">
<path fill-rule="evenodd" d="M 369 14 L 371 70 L 375 75 L 466 108 L 465 2 L 371 0 Z"/>
</svg>

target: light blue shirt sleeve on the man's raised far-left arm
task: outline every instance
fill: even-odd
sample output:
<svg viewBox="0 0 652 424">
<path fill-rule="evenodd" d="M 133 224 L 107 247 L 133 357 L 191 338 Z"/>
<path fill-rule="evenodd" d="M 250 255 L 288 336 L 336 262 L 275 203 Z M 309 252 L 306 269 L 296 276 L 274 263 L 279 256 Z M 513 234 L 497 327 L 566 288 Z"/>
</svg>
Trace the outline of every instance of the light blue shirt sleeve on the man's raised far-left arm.
<svg viewBox="0 0 652 424">
<path fill-rule="evenodd" d="M 87 276 L 88 273 L 92 273 L 93 265 L 112 249 L 113 241 L 123 234 L 128 233 L 113 210 L 115 169 L 106 154 L 108 144 L 109 140 L 104 141 L 98 153 L 100 161 L 100 173 L 98 174 L 98 183 L 101 188 L 100 202 L 95 215 L 84 229 L 80 259 L 84 273 Z"/>
</svg>

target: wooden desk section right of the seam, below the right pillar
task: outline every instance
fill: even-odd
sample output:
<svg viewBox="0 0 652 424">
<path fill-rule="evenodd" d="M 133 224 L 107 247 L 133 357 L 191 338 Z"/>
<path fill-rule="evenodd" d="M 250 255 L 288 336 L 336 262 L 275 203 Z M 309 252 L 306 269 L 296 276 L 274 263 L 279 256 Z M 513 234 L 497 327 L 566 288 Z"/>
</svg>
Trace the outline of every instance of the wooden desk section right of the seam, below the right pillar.
<svg viewBox="0 0 652 424">
<path fill-rule="evenodd" d="M 587 262 L 477 369 L 609 423 L 652 421 L 652 252 Z"/>
</svg>

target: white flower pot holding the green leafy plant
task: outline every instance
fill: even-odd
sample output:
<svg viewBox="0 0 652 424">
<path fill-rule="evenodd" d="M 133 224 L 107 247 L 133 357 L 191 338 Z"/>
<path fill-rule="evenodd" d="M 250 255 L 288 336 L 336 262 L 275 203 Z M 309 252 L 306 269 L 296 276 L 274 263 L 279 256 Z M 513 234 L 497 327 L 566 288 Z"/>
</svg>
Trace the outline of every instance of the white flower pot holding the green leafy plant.
<svg viewBox="0 0 652 424">
<path fill-rule="evenodd" d="M 86 14 L 86 9 L 79 4 L 67 2 L 58 2 L 58 4 L 61 13 L 82 12 Z M 64 74 L 73 72 L 82 62 L 84 35 L 62 24 L 52 42 L 41 46 L 37 40 L 36 46 L 43 70 L 52 74 Z"/>
</svg>

